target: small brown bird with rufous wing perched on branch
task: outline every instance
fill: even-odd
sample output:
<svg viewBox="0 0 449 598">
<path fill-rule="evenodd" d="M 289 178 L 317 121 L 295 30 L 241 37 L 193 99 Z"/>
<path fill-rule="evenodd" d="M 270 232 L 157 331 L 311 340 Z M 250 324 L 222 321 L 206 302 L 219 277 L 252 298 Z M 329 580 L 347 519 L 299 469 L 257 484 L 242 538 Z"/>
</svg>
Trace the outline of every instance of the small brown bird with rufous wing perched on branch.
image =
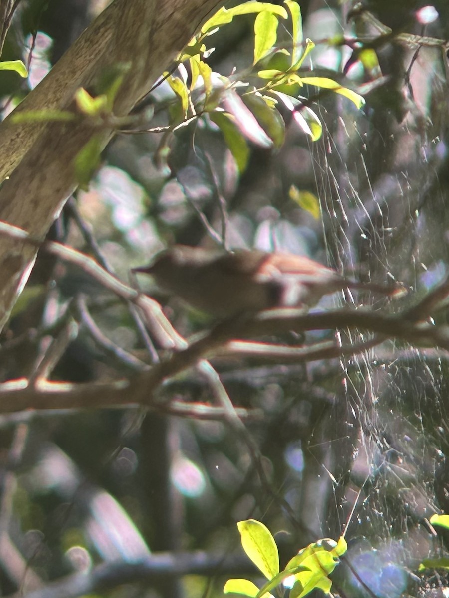
<svg viewBox="0 0 449 598">
<path fill-rule="evenodd" d="M 345 288 L 398 292 L 397 287 L 344 278 L 307 257 L 256 249 L 227 253 L 174 245 L 149 266 L 132 270 L 150 274 L 163 291 L 220 318 L 273 307 L 310 307 Z"/>
</svg>

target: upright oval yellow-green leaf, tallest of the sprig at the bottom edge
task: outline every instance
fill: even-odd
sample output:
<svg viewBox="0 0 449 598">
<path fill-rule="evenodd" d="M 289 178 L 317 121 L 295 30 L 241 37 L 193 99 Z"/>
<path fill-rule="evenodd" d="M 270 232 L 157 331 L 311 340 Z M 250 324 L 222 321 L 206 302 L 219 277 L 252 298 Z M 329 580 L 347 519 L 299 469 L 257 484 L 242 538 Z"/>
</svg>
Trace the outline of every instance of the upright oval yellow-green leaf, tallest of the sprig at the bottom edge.
<svg viewBox="0 0 449 598">
<path fill-rule="evenodd" d="M 237 527 L 245 553 L 266 578 L 272 579 L 279 573 L 279 553 L 268 528 L 254 519 L 239 521 Z"/>
</svg>

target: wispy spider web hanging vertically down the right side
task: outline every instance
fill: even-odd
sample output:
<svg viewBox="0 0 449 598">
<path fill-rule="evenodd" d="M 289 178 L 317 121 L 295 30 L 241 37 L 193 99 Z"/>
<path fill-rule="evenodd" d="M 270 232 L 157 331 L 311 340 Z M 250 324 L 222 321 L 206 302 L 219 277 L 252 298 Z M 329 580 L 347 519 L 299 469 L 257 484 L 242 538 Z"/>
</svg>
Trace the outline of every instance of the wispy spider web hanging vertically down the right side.
<svg viewBox="0 0 449 598">
<path fill-rule="evenodd" d="M 444 243 L 435 242 L 447 219 L 440 117 L 424 106 L 420 127 L 423 115 L 414 108 L 401 123 L 386 117 L 377 128 L 341 115 L 313 147 L 329 263 L 363 280 L 404 282 L 411 289 L 406 304 L 442 279 L 447 258 Z M 372 297 L 345 300 L 353 308 L 398 309 L 395 301 Z M 368 340 L 340 335 L 344 343 Z M 325 518 L 334 521 L 334 536 L 346 530 L 350 547 L 334 589 L 389 597 L 442 591 L 445 582 L 435 572 L 414 571 L 447 542 L 444 534 L 435 538 L 428 522 L 449 509 L 447 356 L 390 340 L 340 368 L 341 392 L 326 432 L 319 432 L 332 445 L 320 462 L 332 486 Z"/>
</svg>

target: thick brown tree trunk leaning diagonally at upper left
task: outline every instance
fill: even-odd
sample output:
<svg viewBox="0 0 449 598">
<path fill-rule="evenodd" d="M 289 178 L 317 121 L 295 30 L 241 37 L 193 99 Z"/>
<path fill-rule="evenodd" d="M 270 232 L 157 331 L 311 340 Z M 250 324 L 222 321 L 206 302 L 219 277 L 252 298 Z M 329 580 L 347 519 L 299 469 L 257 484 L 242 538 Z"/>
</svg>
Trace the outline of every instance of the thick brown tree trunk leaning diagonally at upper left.
<svg viewBox="0 0 449 598">
<path fill-rule="evenodd" d="M 77 39 L 45 79 L 13 114 L 37 109 L 67 109 L 79 87 L 117 63 L 129 69 L 114 102 L 124 116 L 144 96 L 171 60 L 189 42 L 220 0 L 115 0 Z M 0 124 L 0 220 L 44 239 L 77 185 L 73 160 L 93 133 L 92 124 Z M 106 145 L 113 131 L 102 132 Z M 0 238 L 0 331 L 8 321 L 32 264 L 30 245 Z"/>
</svg>

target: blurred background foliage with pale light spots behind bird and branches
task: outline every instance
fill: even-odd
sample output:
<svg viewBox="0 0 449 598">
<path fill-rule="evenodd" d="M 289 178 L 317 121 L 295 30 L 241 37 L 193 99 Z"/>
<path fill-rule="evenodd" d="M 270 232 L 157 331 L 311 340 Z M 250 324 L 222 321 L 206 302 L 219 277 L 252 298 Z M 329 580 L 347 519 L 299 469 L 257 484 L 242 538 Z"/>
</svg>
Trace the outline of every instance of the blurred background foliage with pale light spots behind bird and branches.
<svg viewBox="0 0 449 598">
<path fill-rule="evenodd" d="M 30 76 L 2 72 L 3 115 L 105 4 L 20 0 L 2 60 L 22 59 Z M 362 109 L 309 90 L 320 139 L 311 141 L 292 111 L 280 108 L 283 144 L 248 142 L 240 169 L 207 115 L 175 132 L 118 132 L 49 238 L 94 255 L 126 281 L 132 266 L 172 243 L 213 247 L 217 240 L 308 255 L 363 280 L 400 280 L 413 297 L 441 280 L 449 242 L 448 64 L 444 44 L 411 36 L 449 39 L 446 3 L 433 2 L 433 12 L 419 1 L 300 4 L 304 38 L 316 44 L 307 68 L 359 91 Z M 390 33 L 377 30 L 376 19 Z M 212 71 L 246 81 L 253 23 L 254 16 L 240 17 L 210 38 Z M 278 35 L 283 47 L 290 35 L 283 23 Z M 377 56 L 371 71 L 360 57 L 364 49 Z M 162 81 L 135 115 L 164 127 L 178 102 Z M 210 325 L 144 284 L 181 334 Z M 342 302 L 361 303 L 345 295 L 320 307 Z M 394 309 L 371 297 L 363 303 Z M 107 350 L 89 316 L 141 365 Z M 78 327 L 51 379 L 115 380 L 150 362 L 128 308 L 82 270 L 42 253 L 2 335 L 2 380 L 31 376 L 68 318 Z M 2 593 L 26 594 L 62 575 L 100 562 L 135 562 L 150 551 L 234 553 L 236 521 L 253 517 L 274 533 L 283 564 L 309 542 L 338 538 L 350 520 L 335 594 L 440 595 L 444 573 L 415 572 L 447 542 L 427 524 L 433 512 L 449 510 L 447 355 L 384 343 L 347 362 L 214 365 L 235 405 L 263 411 L 246 425 L 268 486 L 244 439 L 225 422 L 145 416 L 137 408 L 2 416 Z M 160 395 L 210 401 L 193 374 L 171 380 Z M 229 572 L 213 573 L 129 582 L 104 595 L 220 596 Z"/>
</svg>

